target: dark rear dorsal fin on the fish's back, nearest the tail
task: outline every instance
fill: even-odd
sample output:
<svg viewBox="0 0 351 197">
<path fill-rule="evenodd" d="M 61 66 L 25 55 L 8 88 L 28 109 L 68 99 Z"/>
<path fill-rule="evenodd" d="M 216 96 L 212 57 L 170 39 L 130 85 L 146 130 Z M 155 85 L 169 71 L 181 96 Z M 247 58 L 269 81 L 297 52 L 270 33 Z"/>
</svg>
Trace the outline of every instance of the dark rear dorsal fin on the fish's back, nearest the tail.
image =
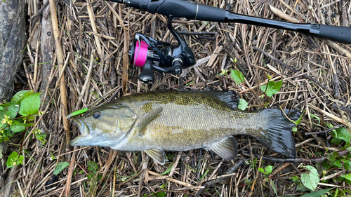
<svg viewBox="0 0 351 197">
<path fill-rule="evenodd" d="M 238 95 L 233 90 L 227 90 L 227 91 L 200 90 L 199 92 L 220 100 L 225 105 L 227 105 L 227 107 L 230 107 L 232 109 L 238 108 L 238 105 L 239 105 L 239 102 L 237 101 Z"/>
</svg>

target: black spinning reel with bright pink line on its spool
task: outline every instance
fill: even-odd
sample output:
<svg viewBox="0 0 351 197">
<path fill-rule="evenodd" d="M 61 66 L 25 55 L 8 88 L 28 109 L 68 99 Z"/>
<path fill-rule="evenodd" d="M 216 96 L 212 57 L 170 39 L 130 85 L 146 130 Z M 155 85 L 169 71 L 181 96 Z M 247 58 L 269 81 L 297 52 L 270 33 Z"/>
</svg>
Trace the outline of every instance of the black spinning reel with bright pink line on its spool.
<svg viewBox="0 0 351 197">
<path fill-rule="evenodd" d="M 180 37 L 172 27 L 173 16 L 168 16 L 168 29 L 178 41 L 178 46 L 173 47 L 171 43 L 156 41 L 145 34 L 135 34 L 134 41 L 130 48 L 129 63 L 135 67 L 143 67 L 139 75 L 142 83 L 154 81 L 153 70 L 171 74 L 180 74 L 182 69 L 195 64 L 195 57 L 187 43 Z"/>
</svg>

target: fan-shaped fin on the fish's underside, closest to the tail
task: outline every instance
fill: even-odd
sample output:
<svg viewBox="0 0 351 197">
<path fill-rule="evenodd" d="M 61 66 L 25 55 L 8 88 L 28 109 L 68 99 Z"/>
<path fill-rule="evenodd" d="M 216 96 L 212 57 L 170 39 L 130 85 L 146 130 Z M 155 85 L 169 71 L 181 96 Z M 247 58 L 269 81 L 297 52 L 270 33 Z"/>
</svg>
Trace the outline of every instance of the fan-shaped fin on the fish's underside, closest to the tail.
<svg viewBox="0 0 351 197">
<path fill-rule="evenodd" d="M 211 147 L 207 147 L 207 149 L 213 151 L 214 153 L 218 154 L 218 156 L 228 161 L 237 158 L 238 154 L 237 142 L 232 136 L 226 137 L 220 142 L 216 142 Z"/>
</svg>

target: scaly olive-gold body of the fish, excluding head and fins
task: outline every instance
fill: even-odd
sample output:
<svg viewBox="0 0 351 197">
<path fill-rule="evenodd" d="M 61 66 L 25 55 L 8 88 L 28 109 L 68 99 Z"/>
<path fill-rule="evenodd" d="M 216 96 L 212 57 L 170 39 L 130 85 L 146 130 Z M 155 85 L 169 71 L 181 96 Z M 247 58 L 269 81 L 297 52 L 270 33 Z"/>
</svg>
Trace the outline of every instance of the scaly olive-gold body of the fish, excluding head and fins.
<svg viewBox="0 0 351 197">
<path fill-rule="evenodd" d="M 196 97 L 194 97 L 196 95 Z M 123 100 L 138 117 L 163 107 L 142 137 L 128 137 L 132 144 L 158 144 L 166 151 L 199 149 L 211 146 L 230 135 L 253 135 L 267 128 L 267 117 L 256 113 L 233 110 L 211 95 L 185 91 L 149 93 L 147 97 L 128 97 Z M 145 141 L 144 141 L 145 140 Z"/>
</svg>

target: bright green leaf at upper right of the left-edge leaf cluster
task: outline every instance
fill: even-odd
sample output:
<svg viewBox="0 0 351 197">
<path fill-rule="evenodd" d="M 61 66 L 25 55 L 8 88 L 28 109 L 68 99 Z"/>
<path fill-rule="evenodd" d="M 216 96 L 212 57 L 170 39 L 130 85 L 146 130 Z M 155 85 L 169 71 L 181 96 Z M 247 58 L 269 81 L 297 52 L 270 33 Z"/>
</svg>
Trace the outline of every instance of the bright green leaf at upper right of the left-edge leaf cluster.
<svg viewBox="0 0 351 197">
<path fill-rule="evenodd" d="M 40 107 L 39 94 L 40 93 L 32 94 L 29 97 L 26 97 L 24 100 L 22 100 L 21 106 L 20 106 L 20 111 L 19 111 L 19 113 L 22 116 L 29 116 L 29 115 L 38 114 L 38 110 Z"/>
</svg>

